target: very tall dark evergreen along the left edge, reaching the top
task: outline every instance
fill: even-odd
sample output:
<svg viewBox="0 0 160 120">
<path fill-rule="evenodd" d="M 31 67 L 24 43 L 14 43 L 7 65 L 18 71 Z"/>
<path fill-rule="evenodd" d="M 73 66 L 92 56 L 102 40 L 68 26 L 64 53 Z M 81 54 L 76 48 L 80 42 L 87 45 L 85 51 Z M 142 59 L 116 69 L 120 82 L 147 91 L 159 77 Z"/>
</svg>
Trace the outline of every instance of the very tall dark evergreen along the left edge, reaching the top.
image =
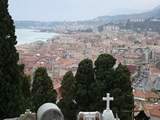
<svg viewBox="0 0 160 120">
<path fill-rule="evenodd" d="M 8 12 L 8 0 L 0 0 L 0 119 L 17 117 L 23 112 L 16 44 L 15 26 Z"/>
</svg>

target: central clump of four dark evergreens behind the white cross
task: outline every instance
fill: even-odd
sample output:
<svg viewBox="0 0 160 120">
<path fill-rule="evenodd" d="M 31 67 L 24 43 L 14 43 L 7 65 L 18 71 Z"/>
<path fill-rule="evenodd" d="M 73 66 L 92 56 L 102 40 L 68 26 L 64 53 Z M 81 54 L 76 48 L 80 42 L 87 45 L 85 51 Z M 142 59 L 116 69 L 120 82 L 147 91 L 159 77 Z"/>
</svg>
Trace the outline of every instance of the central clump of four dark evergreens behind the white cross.
<svg viewBox="0 0 160 120">
<path fill-rule="evenodd" d="M 116 64 L 116 59 L 109 54 L 101 54 L 95 61 L 84 59 L 79 63 L 75 78 L 72 72 L 66 73 L 62 81 L 60 104 L 66 115 L 79 111 L 103 111 L 105 102 L 102 97 L 111 93 L 114 101 L 111 109 L 120 119 L 131 120 L 134 107 L 130 72 L 126 66 Z M 73 106 L 73 99 L 77 106 Z M 77 109 L 76 109 L 77 107 Z M 65 116 L 66 116 L 65 115 Z M 67 116 L 67 119 L 72 119 Z"/>
</svg>

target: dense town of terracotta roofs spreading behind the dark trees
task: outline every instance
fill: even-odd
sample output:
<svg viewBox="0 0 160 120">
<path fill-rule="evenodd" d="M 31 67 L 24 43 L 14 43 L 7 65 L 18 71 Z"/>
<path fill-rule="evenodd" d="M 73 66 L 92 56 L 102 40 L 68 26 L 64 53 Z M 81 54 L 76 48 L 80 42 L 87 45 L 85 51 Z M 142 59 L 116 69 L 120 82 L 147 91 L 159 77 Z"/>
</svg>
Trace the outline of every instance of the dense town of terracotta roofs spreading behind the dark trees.
<svg viewBox="0 0 160 120">
<path fill-rule="evenodd" d="M 145 109 L 158 117 L 159 33 L 124 30 L 114 24 L 103 27 L 102 32 L 76 31 L 60 34 L 47 42 L 19 45 L 20 63 L 26 65 L 25 72 L 30 75 L 37 67 L 46 67 L 54 88 L 60 93 L 64 74 L 70 70 L 76 73 L 82 59 L 95 61 L 100 54 L 111 54 L 117 59 L 117 65 L 127 65 L 132 74 L 136 110 Z"/>
</svg>

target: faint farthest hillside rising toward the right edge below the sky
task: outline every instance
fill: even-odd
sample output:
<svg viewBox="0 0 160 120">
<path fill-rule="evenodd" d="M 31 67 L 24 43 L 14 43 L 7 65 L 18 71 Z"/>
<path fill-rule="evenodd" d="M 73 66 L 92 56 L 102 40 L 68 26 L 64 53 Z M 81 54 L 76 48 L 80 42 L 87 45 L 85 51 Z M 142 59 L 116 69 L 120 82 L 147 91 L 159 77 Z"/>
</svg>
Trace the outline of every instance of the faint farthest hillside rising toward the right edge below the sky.
<svg viewBox="0 0 160 120">
<path fill-rule="evenodd" d="M 147 18 L 160 18 L 160 6 L 157 6 L 153 10 L 144 13 L 129 14 L 129 15 L 122 14 L 115 16 L 100 16 L 93 20 L 115 22 L 115 21 L 126 21 L 128 19 L 147 19 Z"/>
</svg>

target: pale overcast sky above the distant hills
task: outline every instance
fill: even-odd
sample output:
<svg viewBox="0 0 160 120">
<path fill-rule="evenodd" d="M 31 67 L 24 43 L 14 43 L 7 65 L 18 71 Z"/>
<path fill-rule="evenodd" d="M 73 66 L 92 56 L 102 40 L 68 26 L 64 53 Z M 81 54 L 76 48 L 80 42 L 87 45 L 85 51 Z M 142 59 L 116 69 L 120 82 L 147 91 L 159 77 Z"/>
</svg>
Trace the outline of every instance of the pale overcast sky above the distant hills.
<svg viewBox="0 0 160 120">
<path fill-rule="evenodd" d="M 97 16 L 141 12 L 160 5 L 160 0 L 9 0 L 15 20 L 73 21 Z"/>
</svg>

